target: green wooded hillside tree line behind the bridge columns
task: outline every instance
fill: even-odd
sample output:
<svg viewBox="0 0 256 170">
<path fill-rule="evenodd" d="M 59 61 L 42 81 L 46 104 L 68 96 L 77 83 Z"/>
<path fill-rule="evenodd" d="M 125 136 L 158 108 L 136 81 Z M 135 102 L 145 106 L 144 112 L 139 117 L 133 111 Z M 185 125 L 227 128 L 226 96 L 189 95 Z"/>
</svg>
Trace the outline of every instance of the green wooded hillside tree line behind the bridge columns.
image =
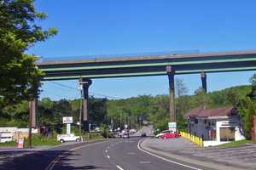
<svg viewBox="0 0 256 170">
<path fill-rule="evenodd" d="M 254 81 L 254 79 L 252 79 Z M 201 88 L 195 90 L 193 95 L 188 94 L 183 80 L 176 79 L 175 108 L 177 114 L 177 127 L 186 129 L 184 114 L 195 107 L 205 105 L 207 108 L 216 108 L 234 105 L 241 112 L 243 120 L 248 120 L 247 112 L 255 109 L 255 89 L 252 86 L 237 86 L 226 88 L 212 93 L 205 93 Z M 253 89 L 253 90 L 252 90 Z M 252 104 L 251 104 L 251 103 Z M 23 101 L 17 105 L 8 105 L 0 111 L 0 126 L 26 127 L 28 122 L 28 102 Z M 38 125 L 61 126 L 62 116 L 73 116 L 73 122 L 79 122 L 80 99 L 60 99 L 53 101 L 44 98 L 38 101 Z M 248 108 L 250 105 L 250 108 Z M 254 110 L 253 110 L 254 111 Z M 252 112 L 252 111 L 251 111 Z M 147 121 L 155 129 L 164 130 L 169 121 L 169 95 L 140 95 L 128 99 L 106 99 L 90 96 L 89 121 L 91 124 L 108 125 L 112 128 L 124 128 L 127 124 L 131 128 L 139 128 Z M 246 130 L 249 128 L 244 122 Z"/>
</svg>

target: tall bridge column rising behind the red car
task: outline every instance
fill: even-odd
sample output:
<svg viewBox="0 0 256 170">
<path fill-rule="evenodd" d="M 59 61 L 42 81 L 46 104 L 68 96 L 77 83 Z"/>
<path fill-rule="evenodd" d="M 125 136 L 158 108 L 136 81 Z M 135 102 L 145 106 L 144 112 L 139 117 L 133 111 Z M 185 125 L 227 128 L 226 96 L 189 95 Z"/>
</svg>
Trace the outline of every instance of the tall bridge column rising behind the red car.
<svg viewBox="0 0 256 170">
<path fill-rule="evenodd" d="M 174 103 L 174 74 L 172 66 L 166 66 L 166 72 L 169 79 L 169 94 L 170 94 L 170 103 L 169 103 L 169 114 L 170 122 L 176 122 L 176 112 L 175 112 L 175 103 Z"/>
</svg>

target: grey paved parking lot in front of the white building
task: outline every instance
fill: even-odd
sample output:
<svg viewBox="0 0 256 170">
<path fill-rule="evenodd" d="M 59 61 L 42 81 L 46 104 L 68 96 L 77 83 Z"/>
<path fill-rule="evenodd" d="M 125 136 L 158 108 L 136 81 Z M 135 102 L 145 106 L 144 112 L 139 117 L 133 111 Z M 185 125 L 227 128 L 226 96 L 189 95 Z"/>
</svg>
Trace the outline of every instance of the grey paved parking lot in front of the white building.
<svg viewBox="0 0 256 170">
<path fill-rule="evenodd" d="M 146 139 L 143 144 L 151 149 L 188 157 L 199 161 L 209 161 L 234 166 L 246 166 L 256 169 L 256 144 L 248 144 L 236 148 L 207 147 L 202 148 L 190 141 L 177 139 Z"/>
</svg>

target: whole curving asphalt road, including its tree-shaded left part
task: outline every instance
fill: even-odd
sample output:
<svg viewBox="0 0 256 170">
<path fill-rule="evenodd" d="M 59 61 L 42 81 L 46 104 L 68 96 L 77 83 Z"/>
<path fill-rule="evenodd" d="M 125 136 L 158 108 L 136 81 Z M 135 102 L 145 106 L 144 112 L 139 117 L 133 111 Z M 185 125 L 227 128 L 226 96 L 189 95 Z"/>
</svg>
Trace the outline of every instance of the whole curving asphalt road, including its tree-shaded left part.
<svg viewBox="0 0 256 170">
<path fill-rule="evenodd" d="M 196 167 L 152 156 L 138 147 L 141 138 L 62 146 L 3 161 L 0 169 L 117 169 L 117 170 L 191 170 Z"/>
</svg>

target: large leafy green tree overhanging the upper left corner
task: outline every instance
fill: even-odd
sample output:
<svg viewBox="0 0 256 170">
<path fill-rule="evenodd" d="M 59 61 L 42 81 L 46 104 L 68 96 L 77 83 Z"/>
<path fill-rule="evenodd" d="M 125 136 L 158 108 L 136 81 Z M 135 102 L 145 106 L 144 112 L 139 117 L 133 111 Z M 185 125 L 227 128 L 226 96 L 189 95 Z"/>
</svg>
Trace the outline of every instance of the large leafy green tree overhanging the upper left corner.
<svg viewBox="0 0 256 170">
<path fill-rule="evenodd" d="M 36 42 L 54 36 L 57 31 L 43 31 L 36 23 L 46 14 L 34 7 L 34 0 L 0 0 L 0 106 L 20 103 L 38 96 L 43 72 L 38 59 L 26 54 Z"/>
</svg>

